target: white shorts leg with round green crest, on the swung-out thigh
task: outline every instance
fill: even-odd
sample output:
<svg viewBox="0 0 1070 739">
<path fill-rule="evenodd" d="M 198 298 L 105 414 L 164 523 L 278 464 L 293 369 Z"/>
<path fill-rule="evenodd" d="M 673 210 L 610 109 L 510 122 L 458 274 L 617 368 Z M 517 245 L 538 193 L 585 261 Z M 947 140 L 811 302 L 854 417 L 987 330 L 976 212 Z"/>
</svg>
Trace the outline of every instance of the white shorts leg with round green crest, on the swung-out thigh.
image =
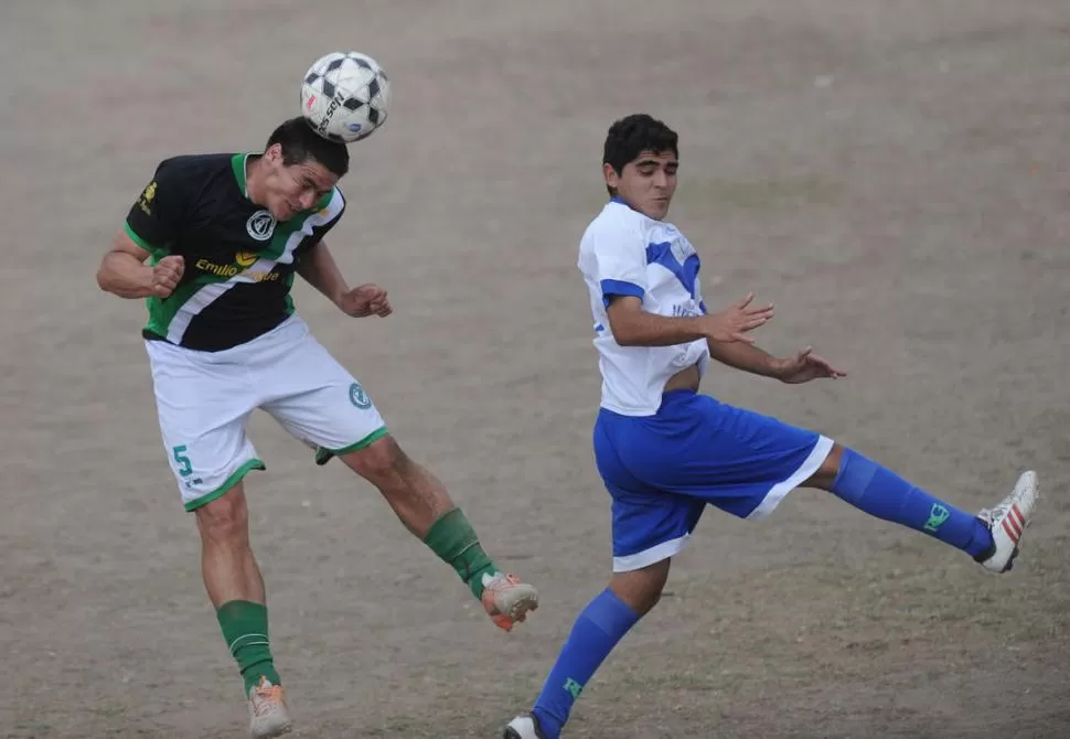
<svg viewBox="0 0 1070 739">
<path fill-rule="evenodd" d="M 341 456 L 386 436 L 386 424 L 364 386 L 308 336 L 263 378 L 263 403 L 287 431 L 308 446 Z"/>
</svg>

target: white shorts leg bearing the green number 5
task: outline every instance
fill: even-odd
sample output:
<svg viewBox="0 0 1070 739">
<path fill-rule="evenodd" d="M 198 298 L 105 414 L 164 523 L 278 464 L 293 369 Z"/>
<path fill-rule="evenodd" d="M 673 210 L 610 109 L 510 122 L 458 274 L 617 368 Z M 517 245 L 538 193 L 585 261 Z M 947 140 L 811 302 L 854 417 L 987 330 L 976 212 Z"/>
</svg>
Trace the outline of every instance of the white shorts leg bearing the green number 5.
<svg viewBox="0 0 1070 739">
<path fill-rule="evenodd" d="M 147 342 L 160 433 L 186 511 L 224 495 L 249 470 L 264 469 L 246 433 L 255 400 L 239 365 Z"/>
</svg>

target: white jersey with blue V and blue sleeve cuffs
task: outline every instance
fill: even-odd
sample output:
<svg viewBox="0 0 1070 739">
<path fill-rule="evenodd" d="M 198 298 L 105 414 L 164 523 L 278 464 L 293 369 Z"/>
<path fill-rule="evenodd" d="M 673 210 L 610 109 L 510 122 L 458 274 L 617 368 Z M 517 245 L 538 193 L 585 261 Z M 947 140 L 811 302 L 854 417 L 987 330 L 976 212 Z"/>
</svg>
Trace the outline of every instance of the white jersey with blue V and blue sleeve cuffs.
<svg viewBox="0 0 1070 739">
<path fill-rule="evenodd" d="M 670 377 L 694 364 L 705 374 L 709 365 L 706 341 L 621 346 L 613 338 L 606 308 L 612 296 L 634 296 L 642 299 L 648 313 L 705 313 L 698 255 L 675 226 L 649 218 L 614 197 L 584 233 L 578 266 L 595 319 L 601 406 L 623 416 L 653 416 Z"/>
</svg>

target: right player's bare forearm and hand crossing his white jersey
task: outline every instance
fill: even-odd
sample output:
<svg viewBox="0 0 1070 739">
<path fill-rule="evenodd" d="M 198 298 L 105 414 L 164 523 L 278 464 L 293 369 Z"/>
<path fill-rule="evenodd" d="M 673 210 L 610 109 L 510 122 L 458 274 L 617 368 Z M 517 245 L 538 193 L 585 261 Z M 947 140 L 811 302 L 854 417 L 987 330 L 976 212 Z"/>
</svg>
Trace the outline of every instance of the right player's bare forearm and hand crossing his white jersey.
<svg viewBox="0 0 1070 739">
<path fill-rule="evenodd" d="M 613 338 L 621 346 L 672 346 L 706 339 L 720 342 L 753 343 L 749 331 L 764 325 L 772 317 L 772 304 L 755 308 L 753 293 L 728 310 L 695 317 L 656 315 L 643 310 L 640 298 L 614 298 L 606 311 Z"/>
</svg>

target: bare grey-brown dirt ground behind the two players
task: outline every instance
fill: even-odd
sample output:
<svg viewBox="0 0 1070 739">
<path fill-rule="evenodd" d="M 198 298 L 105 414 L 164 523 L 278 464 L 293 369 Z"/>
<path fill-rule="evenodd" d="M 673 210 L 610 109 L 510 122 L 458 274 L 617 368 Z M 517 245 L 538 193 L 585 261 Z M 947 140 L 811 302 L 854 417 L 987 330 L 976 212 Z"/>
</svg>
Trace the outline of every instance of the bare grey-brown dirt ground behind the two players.
<svg viewBox="0 0 1070 739">
<path fill-rule="evenodd" d="M 1066 0 L 4 0 L 0 735 L 242 737 L 159 440 L 143 308 L 94 271 L 170 154 L 250 150 L 327 51 L 378 58 L 332 244 L 385 321 L 299 311 L 543 608 L 499 633 L 375 491 L 266 416 L 249 478 L 298 737 L 497 737 L 609 569 L 578 238 L 604 130 L 676 127 L 707 302 L 850 377 L 705 390 L 975 510 L 1035 467 L 1007 577 L 813 491 L 710 512 L 567 736 L 1070 736 Z"/>
</svg>

